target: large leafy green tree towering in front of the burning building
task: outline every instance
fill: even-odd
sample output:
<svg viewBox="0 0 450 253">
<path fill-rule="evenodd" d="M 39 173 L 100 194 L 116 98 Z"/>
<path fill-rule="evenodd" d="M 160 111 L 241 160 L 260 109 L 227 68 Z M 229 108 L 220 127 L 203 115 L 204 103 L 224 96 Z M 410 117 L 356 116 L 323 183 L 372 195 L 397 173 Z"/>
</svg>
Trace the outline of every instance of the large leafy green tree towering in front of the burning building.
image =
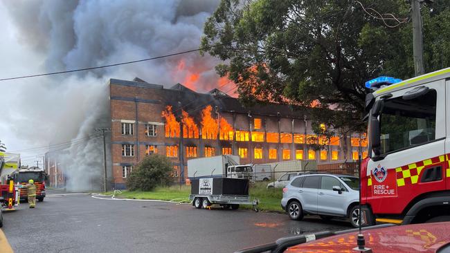
<svg viewBox="0 0 450 253">
<path fill-rule="evenodd" d="M 409 15 L 405 1 L 361 2 L 380 13 Z M 440 12 L 435 21 L 424 15 L 425 30 L 433 26 L 427 22 L 442 28 L 450 24 L 450 19 L 443 20 L 448 7 L 441 5 L 435 12 Z M 235 82 L 244 104 L 314 104 L 309 120 L 316 133 L 330 136 L 365 131 L 366 81 L 379 75 L 413 76 L 411 30 L 411 24 L 387 28 L 350 0 L 222 0 L 206 21 L 201 46 L 214 46 L 207 52 L 225 61 L 217 73 Z M 450 41 L 442 33 L 436 36 L 439 41 Z M 444 48 L 433 55 L 449 50 L 447 45 L 435 45 Z M 425 65 L 432 66 L 427 71 L 450 59 L 429 65 L 436 61 L 429 52 L 424 53 Z M 327 126 L 325 133 L 320 124 Z"/>
</svg>

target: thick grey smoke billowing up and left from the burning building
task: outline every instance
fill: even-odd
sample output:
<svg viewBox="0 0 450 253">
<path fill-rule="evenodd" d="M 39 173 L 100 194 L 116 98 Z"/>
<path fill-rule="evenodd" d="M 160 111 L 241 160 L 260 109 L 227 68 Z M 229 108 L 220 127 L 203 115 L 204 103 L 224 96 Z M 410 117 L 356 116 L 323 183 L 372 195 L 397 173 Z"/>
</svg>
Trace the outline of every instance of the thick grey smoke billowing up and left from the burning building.
<svg viewBox="0 0 450 253">
<path fill-rule="evenodd" d="M 42 64 L 46 71 L 197 48 L 204 21 L 217 4 L 218 0 L 3 2 L 19 30 L 19 43 L 45 55 L 43 63 L 24 64 Z M 34 146 L 85 138 L 96 128 L 109 127 L 107 79 L 137 76 L 151 83 L 170 86 L 180 82 L 207 91 L 217 86 L 216 64 L 217 59 L 192 53 L 89 73 L 30 79 L 34 85 L 19 88 L 24 102 L 7 120 L 14 122 L 10 130 L 18 138 L 31 138 Z M 74 144 L 63 155 L 69 188 L 88 189 L 86 178 L 100 177 L 100 143 L 93 138 Z"/>
</svg>

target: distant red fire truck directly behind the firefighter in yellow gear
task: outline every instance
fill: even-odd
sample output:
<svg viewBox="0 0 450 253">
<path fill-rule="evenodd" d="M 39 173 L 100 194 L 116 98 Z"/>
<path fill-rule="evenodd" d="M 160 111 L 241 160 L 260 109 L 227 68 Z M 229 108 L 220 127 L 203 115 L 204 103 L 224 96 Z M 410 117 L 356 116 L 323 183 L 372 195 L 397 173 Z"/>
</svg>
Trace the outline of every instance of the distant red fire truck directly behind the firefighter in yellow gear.
<svg viewBox="0 0 450 253">
<path fill-rule="evenodd" d="M 21 185 L 26 185 L 28 180 L 33 179 L 36 186 L 36 199 L 39 201 L 44 201 L 45 198 L 45 180 L 47 174 L 44 169 L 39 167 L 26 167 L 18 169 L 10 175 L 10 179 L 14 180 L 15 183 Z M 28 192 L 26 188 L 20 189 L 20 199 L 26 200 L 28 198 Z"/>
</svg>

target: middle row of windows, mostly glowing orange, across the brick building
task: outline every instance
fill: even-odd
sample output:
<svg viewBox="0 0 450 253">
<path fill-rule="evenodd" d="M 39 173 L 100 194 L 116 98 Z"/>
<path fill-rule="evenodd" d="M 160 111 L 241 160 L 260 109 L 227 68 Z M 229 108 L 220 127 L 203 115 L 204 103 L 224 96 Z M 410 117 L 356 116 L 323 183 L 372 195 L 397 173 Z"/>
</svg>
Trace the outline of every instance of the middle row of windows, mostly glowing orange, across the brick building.
<svg viewBox="0 0 450 253">
<path fill-rule="evenodd" d="M 255 128 L 256 129 L 256 128 Z M 190 129 L 183 129 L 186 131 L 183 131 L 183 137 L 184 138 L 199 138 L 198 131 L 190 131 Z M 134 135 L 134 123 L 122 123 L 122 135 Z M 155 124 L 145 124 L 145 135 L 147 136 L 156 136 L 156 125 Z M 250 140 L 250 132 L 249 131 L 227 131 L 226 133 L 219 133 L 219 139 L 220 140 L 233 140 L 233 137 L 235 135 L 235 140 L 238 142 L 248 142 Z M 165 137 L 178 137 L 177 135 L 168 135 L 166 134 Z M 208 136 L 210 138 L 215 140 L 216 134 Z M 318 137 L 317 135 L 313 134 L 299 134 L 299 133 L 265 133 L 266 142 L 271 143 L 294 143 L 297 144 L 323 144 L 323 145 L 332 145 L 332 146 L 339 146 L 340 144 L 340 138 L 334 136 L 330 138 L 330 140 L 327 140 L 325 137 Z M 264 142 L 264 132 L 252 132 L 251 133 L 251 141 L 252 142 Z M 366 138 L 357 138 L 352 137 L 351 138 L 351 144 L 352 147 L 367 147 L 367 140 Z"/>
</svg>

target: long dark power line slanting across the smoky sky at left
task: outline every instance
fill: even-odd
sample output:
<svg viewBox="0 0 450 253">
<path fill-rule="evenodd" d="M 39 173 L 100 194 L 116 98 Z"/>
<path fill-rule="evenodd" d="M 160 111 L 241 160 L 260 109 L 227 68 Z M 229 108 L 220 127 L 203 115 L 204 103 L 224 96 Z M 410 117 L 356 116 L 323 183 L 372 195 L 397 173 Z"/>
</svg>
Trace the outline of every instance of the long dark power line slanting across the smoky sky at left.
<svg viewBox="0 0 450 253">
<path fill-rule="evenodd" d="M 172 56 L 175 56 L 175 55 L 183 55 L 183 54 L 187 54 L 187 53 L 197 52 L 197 51 L 200 51 L 200 50 L 206 50 L 206 49 L 209 49 L 209 48 L 214 48 L 216 46 L 220 46 L 220 45 L 205 46 L 203 48 L 196 48 L 196 49 L 192 49 L 192 50 L 186 50 L 186 51 L 183 51 L 183 52 L 172 53 L 172 54 L 169 54 L 169 55 L 160 55 L 160 56 L 150 57 L 150 58 L 145 58 L 145 59 L 137 59 L 135 61 L 130 61 L 130 62 L 120 62 L 120 63 L 116 63 L 116 64 L 108 64 L 108 65 L 95 66 L 95 67 L 89 67 L 89 68 L 76 68 L 76 69 L 72 69 L 72 70 L 69 70 L 69 71 L 57 71 L 57 72 L 42 73 L 42 74 L 36 74 L 36 75 L 22 75 L 22 76 L 18 76 L 18 77 L 7 77 L 7 78 L 0 79 L 0 82 L 1 81 L 7 81 L 7 80 L 13 80 L 13 79 L 24 79 L 24 78 L 30 78 L 30 77 L 42 77 L 44 75 L 59 75 L 59 74 L 73 73 L 73 72 L 79 72 L 79 71 L 91 71 L 93 69 L 98 69 L 98 68 L 109 68 L 109 67 L 126 65 L 126 64 L 134 64 L 134 63 L 137 63 L 137 62 L 147 62 L 147 61 L 151 61 L 151 60 L 154 60 L 154 59 L 161 59 L 161 58 L 165 58 L 165 57 L 172 57 Z"/>
</svg>

